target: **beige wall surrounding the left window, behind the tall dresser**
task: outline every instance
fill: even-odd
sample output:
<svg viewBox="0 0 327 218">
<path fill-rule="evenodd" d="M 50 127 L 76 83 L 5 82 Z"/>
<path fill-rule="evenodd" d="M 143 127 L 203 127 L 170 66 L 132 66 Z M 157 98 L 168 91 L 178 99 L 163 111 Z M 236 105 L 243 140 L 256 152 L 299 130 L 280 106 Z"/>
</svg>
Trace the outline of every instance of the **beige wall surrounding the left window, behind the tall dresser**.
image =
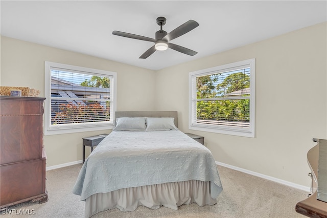
<svg viewBox="0 0 327 218">
<path fill-rule="evenodd" d="M 28 86 L 44 97 L 44 61 L 117 73 L 117 110 L 154 110 L 155 72 L 106 59 L 1 37 L 1 81 L 3 86 Z M 109 133 L 83 132 L 44 136 L 46 167 L 82 159 L 82 138 Z M 89 154 L 86 148 L 86 155 Z"/>
</svg>

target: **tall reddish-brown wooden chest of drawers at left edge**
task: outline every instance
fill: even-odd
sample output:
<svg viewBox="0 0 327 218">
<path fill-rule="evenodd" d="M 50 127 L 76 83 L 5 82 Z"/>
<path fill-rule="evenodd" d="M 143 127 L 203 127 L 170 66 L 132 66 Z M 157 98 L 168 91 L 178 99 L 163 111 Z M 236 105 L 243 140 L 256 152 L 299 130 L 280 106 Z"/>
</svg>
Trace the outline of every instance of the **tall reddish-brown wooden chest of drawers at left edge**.
<svg viewBox="0 0 327 218">
<path fill-rule="evenodd" d="M 44 100 L 0 96 L 0 208 L 48 201 L 42 157 Z"/>
</svg>

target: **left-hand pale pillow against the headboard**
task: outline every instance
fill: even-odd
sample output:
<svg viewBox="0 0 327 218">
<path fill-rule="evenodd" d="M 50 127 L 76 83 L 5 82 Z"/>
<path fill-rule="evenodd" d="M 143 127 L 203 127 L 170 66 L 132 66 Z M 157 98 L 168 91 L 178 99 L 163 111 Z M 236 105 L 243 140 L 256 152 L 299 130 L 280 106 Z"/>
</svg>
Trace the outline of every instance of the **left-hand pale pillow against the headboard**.
<svg viewBox="0 0 327 218">
<path fill-rule="evenodd" d="M 145 131 L 146 127 L 144 117 L 120 117 L 112 131 Z"/>
</svg>

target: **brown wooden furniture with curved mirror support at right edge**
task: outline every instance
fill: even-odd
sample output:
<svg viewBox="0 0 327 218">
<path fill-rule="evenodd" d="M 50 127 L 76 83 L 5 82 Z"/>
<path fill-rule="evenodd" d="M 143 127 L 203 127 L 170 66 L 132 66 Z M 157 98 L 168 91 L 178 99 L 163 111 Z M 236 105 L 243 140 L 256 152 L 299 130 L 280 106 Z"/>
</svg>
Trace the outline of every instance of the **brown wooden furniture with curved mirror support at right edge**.
<svg viewBox="0 0 327 218">
<path fill-rule="evenodd" d="M 309 173 L 309 175 L 312 176 L 312 187 L 311 193 L 309 194 L 310 197 L 298 202 L 295 206 L 295 210 L 296 212 L 309 217 L 327 218 L 327 203 L 317 199 L 318 157 L 319 143 L 311 148 L 307 154 L 308 164 L 311 168 L 311 173 Z"/>
</svg>

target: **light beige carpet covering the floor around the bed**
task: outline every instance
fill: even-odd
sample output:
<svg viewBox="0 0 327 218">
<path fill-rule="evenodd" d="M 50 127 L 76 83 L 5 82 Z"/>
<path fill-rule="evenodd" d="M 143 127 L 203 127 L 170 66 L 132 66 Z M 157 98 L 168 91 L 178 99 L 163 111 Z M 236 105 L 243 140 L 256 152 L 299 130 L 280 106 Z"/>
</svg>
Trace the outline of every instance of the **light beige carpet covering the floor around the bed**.
<svg viewBox="0 0 327 218">
<path fill-rule="evenodd" d="M 9 207 L 2 217 L 84 217 L 84 202 L 72 193 L 82 164 L 46 171 L 49 201 L 43 204 L 26 202 Z M 295 211 L 297 202 L 308 193 L 246 173 L 218 166 L 223 191 L 217 204 L 200 207 L 193 203 L 178 210 L 160 207 L 153 210 L 139 206 L 133 212 L 111 209 L 92 218 L 102 217 L 306 217 Z M 1 212 L 1 211 L 0 211 Z M 12 213 L 12 214 L 9 214 Z M 23 214 L 29 213 L 29 214 Z"/>
</svg>

